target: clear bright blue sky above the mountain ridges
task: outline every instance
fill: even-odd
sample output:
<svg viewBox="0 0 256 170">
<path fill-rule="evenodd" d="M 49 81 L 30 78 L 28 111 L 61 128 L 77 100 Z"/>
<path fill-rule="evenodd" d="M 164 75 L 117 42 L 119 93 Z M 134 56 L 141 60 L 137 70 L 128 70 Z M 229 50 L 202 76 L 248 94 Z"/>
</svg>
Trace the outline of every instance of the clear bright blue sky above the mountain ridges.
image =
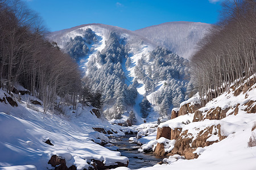
<svg viewBox="0 0 256 170">
<path fill-rule="evenodd" d="M 102 23 L 136 30 L 165 22 L 216 23 L 221 0 L 24 0 L 49 31 Z"/>
</svg>

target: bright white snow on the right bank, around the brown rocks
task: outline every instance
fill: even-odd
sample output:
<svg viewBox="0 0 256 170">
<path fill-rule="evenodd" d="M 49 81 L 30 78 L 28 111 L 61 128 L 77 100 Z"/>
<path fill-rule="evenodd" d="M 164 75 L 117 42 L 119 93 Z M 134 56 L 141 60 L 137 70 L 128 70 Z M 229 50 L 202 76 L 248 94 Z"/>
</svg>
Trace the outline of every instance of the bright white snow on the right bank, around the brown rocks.
<svg viewBox="0 0 256 170">
<path fill-rule="evenodd" d="M 256 142 L 255 146 L 248 146 L 250 137 L 255 139 L 256 114 L 247 113 L 245 105 L 248 101 L 256 101 L 255 87 L 256 84 L 249 88 L 249 91 L 241 92 L 241 94 L 238 96 L 235 96 L 234 91 L 232 90 L 231 92 L 225 92 L 221 96 L 210 101 L 207 105 L 205 105 L 205 107 L 199 109 L 204 115 L 204 113 L 206 113 L 210 108 L 230 108 L 229 111 L 226 112 L 226 117 L 222 118 L 221 120 L 205 119 L 204 121 L 192 122 L 195 114 L 193 113 L 179 116 L 160 124 L 160 128 L 163 126 L 169 126 L 172 129 L 182 128 L 181 133 L 188 130 L 187 134 L 189 134 L 190 138 L 193 140 L 197 138 L 197 135 L 199 135 L 201 130 L 204 130 L 212 125 L 217 126 L 220 124 L 220 133 L 221 135 L 226 136 L 226 138 L 220 141 L 218 135 L 215 135 L 213 132 L 207 141 L 219 142 L 213 143 L 212 145 L 204 148 L 198 147 L 193 153 L 199 155 L 199 158 L 187 160 L 183 156 L 174 155 L 170 156 L 168 159 L 164 159 L 164 164 L 162 165 L 157 164 L 154 165 L 154 167 L 141 169 L 256 169 Z M 198 100 L 199 97 L 195 96 L 181 105 L 193 102 L 197 103 L 199 102 Z M 234 113 L 230 114 L 234 112 L 234 108 L 236 108 L 237 104 L 240 104 L 238 107 L 238 113 L 236 115 L 234 115 Z M 184 123 L 188 121 L 191 123 Z M 139 133 L 147 131 L 147 127 L 145 128 L 146 129 Z M 213 128 L 213 131 L 214 130 L 217 129 Z M 156 143 L 168 143 L 168 145 L 165 146 L 165 150 L 171 150 L 174 146 L 175 140 L 166 141 L 167 139 L 162 138 L 155 140 L 156 131 L 154 131 L 146 137 L 139 138 L 138 140 L 131 139 L 131 141 L 143 144 L 142 149 L 139 149 L 139 151 L 148 150 L 152 146 L 155 147 Z"/>
</svg>

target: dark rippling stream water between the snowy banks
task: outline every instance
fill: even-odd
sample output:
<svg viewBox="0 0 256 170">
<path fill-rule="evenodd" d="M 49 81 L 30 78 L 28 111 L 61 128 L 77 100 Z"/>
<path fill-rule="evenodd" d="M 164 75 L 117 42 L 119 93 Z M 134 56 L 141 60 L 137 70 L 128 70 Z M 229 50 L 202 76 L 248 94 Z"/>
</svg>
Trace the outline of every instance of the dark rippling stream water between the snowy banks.
<svg viewBox="0 0 256 170">
<path fill-rule="evenodd" d="M 152 167 L 164 158 L 167 158 L 165 156 L 155 156 L 152 153 L 143 154 L 138 152 L 138 148 L 140 148 L 140 146 L 138 146 L 137 143 L 129 143 L 130 137 L 135 137 L 135 135 L 109 138 L 110 142 L 119 148 L 121 156 L 129 158 L 128 168 L 138 169 L 143 167 Z"/>
</svg>

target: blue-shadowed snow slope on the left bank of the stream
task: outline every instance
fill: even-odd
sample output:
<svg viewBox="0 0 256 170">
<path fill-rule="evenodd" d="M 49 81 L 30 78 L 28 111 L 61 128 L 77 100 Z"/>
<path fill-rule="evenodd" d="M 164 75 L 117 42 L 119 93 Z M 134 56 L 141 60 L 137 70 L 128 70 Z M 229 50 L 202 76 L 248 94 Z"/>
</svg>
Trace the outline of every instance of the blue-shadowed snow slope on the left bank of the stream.
<svg viewBox="0 0 256 170">
<path fill-rule="evenodd" d="M 4 91 L 0 90 L 2 96 Z M 92 108 L 66 107 L 68 116 L 44 114 L 41 106 L 26 99 L 28 95 L 22 96 L 18 107 L 0 102 L 0 169 L 51 169 L 48 161 L 52 155 L 65 158 L 67 167 L 76 165 L 77 169 L 88 168 L 92 159 L 102 160 L 106 165 L 127 162 L 128 158 L 120 152 L 91 141 L 108 142 L 105 135 L 92 128 L 113 129 L 124 135 L 104 118 L 92 115 Z M 43 142 L 47 139 L 54 146 Z"/>
</svg>

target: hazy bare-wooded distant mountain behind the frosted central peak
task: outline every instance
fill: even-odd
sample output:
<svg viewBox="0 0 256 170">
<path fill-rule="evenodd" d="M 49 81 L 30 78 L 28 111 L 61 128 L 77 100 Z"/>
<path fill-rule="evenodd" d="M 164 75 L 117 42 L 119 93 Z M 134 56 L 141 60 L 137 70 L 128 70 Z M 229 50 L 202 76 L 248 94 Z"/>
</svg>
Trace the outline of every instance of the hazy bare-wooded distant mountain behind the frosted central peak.
<svg viewBox="0 0 256 170">
<path fill-rule="evenodd" d="M 181 57 L 189 58 L 195 52 L 197 42 L 205 36 L 210 26 L 206 23 L 168 22 L 135 32 Z"/>
</svg>

